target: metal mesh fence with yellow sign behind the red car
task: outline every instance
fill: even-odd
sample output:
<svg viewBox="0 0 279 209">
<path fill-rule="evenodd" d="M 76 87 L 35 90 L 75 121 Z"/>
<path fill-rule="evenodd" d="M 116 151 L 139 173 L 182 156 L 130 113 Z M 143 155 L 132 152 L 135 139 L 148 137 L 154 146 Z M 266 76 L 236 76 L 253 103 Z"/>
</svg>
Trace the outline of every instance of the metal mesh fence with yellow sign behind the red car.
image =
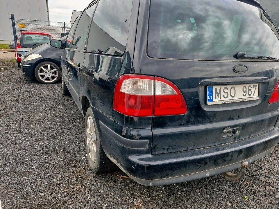
<svg viewBox="0 0 279 209">
<path fill-rule="evenodd" d="M 59 39 L 67 34 L 71 28 L 71 23 L 28 19 L 14 19 L 14 24 L 14 33 L 16 33 L 17 37 L 22 31 L 40 31 L 50 33 L 54 39 Z"/>
</svg>

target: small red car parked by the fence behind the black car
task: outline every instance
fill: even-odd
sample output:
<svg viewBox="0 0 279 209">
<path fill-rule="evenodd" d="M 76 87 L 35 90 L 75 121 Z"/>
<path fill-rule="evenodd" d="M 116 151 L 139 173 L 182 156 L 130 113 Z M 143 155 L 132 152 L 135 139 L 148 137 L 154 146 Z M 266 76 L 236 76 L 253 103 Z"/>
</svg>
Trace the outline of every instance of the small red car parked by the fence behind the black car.
<svg viewBox="0 0 279 209">
<path fill-rule="evenodd" d="M 42 44 L 49 43 L 51 39 L 53 39 L 53 37 L 50 33 L 22 31 L 17 39 L 15 51 L 22 51 L 22 49 L 19 50 L 18 48 L 36 48 Z M 22 54 L 22 52 L 15 53 L 18 67 L 20 67 Z"/>
</svg>

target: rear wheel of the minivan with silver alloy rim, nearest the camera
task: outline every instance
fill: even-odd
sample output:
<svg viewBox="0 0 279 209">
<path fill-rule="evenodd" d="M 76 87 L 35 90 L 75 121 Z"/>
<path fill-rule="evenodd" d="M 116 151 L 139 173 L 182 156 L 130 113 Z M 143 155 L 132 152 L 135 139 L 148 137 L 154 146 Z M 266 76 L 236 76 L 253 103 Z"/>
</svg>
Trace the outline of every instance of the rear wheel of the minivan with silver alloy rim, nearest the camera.
<svg viewBox="0 0 279 209">
<path fill-rule="evenodd" d="M 91 108 L 88 108 L 86 111 L 84 132 L 87 161 L 90 168 L 95 173 L 115 170 L 117 166 L 106 156 L 103 150 L 99 131 Z"/>
</svg>

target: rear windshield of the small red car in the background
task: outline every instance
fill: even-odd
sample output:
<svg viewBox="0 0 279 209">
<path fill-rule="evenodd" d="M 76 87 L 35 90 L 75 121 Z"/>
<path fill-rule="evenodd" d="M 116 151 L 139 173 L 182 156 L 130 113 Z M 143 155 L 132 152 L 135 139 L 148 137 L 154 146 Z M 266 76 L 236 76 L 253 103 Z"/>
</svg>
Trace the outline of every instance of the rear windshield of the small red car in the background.
<svg viewBox="0 0 279 209">
<path fill-rule="evenodd" d="M 25 34 L 20 36 L 21 46 L 40 46 L 41 44 L 49 43 L 51 40 L 50 36 L 47 35 L 37 35 L 37 34 Z"/>
</svg>

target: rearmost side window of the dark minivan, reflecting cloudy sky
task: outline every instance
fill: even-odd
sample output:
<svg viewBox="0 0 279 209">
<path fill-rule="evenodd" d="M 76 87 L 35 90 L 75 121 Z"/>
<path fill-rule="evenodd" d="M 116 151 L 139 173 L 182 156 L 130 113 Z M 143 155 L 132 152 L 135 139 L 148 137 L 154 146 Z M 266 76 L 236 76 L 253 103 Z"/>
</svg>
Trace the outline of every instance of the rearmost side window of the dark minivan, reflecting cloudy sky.
<svg viewBox="0 0 279 209">
<path fill-rule="evenodd" d="M 132 0 L 100 0 L 88 37 L 88 52 L 120 54 L 125 51 Z"/>
</svg>

